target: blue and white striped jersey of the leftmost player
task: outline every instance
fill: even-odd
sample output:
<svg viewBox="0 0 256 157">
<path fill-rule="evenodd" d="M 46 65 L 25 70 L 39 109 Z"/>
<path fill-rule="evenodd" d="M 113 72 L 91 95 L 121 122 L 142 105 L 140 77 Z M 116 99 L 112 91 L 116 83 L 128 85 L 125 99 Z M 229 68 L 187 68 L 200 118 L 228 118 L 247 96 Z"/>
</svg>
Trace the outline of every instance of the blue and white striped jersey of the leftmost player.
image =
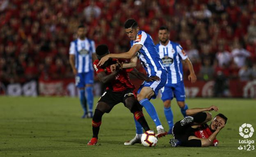
<svg viewBox="0 0 256 157">
<path fill-rule="evenodd" d="M 76 39 L 70 44 L 69 54 L 75 55 L 75 68 L 78 73 L 93 71 L 92 53 L 95 53 L 95 43 L 93 40 Z"/>
</svg>

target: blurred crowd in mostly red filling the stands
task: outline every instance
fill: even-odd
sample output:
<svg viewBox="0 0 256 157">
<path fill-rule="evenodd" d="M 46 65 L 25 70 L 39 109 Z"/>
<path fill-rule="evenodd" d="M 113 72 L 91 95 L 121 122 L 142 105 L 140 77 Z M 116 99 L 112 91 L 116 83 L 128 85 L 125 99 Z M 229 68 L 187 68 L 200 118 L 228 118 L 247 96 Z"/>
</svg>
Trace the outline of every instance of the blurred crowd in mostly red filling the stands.
<svg viewBox="0 0 256 157">
<path fill-rule="evenodd" d="M 199 80 L 256 78 L 256 0 L 0 0 L 0 81 L 73 77 L 69 44 L 80 24 L 96 46 L 125 52 L 128 18 L 155 44 L 166 25 Z"/>
</svg>

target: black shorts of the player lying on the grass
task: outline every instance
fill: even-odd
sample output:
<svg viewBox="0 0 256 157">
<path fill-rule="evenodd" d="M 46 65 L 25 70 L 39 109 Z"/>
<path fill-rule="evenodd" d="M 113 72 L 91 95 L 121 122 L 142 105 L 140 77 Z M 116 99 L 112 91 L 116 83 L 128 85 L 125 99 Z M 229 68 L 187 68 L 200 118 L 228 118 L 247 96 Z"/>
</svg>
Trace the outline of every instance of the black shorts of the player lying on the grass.
<svg viewBox="0 0 256 157">
<path fill-rule="evenodd" d="M 200 139 L 188 140 L 188 137 L 195 136 L 195 130 L 196 129 L 192 128 L 190 125 L 181 126 L 181 121 L 178 121 L 172 128 L 172 135 L 174 136 L 174 139 L 178 139 L 181 142 L 181 146 L 201 147 Z"/>
</svg>

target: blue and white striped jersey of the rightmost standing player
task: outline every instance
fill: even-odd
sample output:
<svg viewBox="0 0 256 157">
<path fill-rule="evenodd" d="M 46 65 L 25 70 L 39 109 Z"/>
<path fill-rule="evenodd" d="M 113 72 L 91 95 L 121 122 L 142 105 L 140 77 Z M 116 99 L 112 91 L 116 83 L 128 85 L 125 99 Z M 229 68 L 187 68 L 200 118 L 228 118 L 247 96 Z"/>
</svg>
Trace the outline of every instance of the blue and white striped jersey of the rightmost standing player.
<svg viewBox="0 0 256 157">
<path fill-rule="evenodd" d="M 181 82 L 183 80 L 181 60 L 187 59 L 187 55 L 181 45 L 169 41 L 166 46 L 161 43 L 157 44 L 156 49 L 168 71 L 166 84 L 177 84 L 178 82 Z"/>
</svg>

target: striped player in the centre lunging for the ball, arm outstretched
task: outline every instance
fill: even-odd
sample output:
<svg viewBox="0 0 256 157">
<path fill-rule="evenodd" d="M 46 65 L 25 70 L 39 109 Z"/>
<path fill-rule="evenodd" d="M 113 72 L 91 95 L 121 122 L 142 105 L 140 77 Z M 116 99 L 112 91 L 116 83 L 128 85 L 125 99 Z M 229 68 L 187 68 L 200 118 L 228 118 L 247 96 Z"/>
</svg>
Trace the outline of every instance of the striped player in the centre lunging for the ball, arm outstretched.
<svg viewBox="0 0 256 157">
<path fill-rule="evenodd" d="M 155 107 L 149 100 L 151 98 L 155 99 L 158 95 L 158 91 L 165 85 L 167 80 L 167 71 L 156 51 L 151 36 L 144 31 L 139 31 L 138 23 L 134 19 L 127 20 L 124 24 L 124 28 L 126 34 L 131 40 L 130 50 L 125 53 L 106 55 L 101 58 L 98 65 L 103 65 L 109 58 L 123 58 L 131 59 L 130 63 L 123 64 L 123 68 L 132 68 L 137 65 L 137 60 L 139 58 L 148 77 L 158 76 L 160 78 L 160 81 L 143 82 L 137 91 L 137 100 L 139 101 L 139 104 L 144 106 L 151 119 L 155 122 L 155 126 L 158 130 L 157 136 L 165 136 L 167 135 L 167 132 L 165 132 L 160 119 L 158 118 Z M 135 124 L 136 128 L 141 128 L 138 123 L 135 122 Z M 137 134 L 140 132 L 141 130 L 136 130 Z M 135 139 L 131 140 L 130 144 L 139 142 L 140 138 L 137 138 L 136 142 L 134 140 Z"/>
</svg>

